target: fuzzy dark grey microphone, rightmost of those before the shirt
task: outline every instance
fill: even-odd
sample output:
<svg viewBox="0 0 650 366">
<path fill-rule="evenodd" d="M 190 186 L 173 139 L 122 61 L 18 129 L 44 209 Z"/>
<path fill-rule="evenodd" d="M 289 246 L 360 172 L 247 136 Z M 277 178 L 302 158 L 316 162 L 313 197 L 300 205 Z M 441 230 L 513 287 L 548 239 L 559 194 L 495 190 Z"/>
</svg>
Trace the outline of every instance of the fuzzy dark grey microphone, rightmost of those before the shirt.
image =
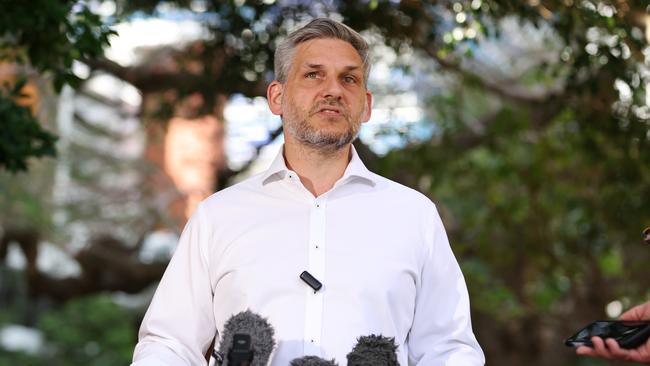
<svg viewBox="0 0 650 366">
<path fill-rule="evenodd" d="M 348 366 L 399 366 L 395 338 L 371 334 L 357 339 L 348 353 Z"/>
</svg>

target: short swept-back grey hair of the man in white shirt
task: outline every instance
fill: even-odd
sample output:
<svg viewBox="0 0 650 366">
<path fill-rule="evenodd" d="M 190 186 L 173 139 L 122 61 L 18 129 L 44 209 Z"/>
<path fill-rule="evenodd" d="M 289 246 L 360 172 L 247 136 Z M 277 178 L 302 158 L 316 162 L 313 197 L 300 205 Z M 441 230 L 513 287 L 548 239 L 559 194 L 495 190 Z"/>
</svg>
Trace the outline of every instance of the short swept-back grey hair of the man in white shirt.
<svg viewBox="0 0 650 366">
<path fill-rule="evenodd" d="M 370 75 L 369 47 L 363 37 L 347 25 L 328 18 L 316 18 L 304 27 L 293 31 L 275 49 L 274 69 L 275 79 L 284 84 L 287 82 L 289 69 L 293 62 L 296 47 L 312 39 L 334 38 L 352 45 L 363 61 L 364 84 L 367 85 Z"/>
</svg>

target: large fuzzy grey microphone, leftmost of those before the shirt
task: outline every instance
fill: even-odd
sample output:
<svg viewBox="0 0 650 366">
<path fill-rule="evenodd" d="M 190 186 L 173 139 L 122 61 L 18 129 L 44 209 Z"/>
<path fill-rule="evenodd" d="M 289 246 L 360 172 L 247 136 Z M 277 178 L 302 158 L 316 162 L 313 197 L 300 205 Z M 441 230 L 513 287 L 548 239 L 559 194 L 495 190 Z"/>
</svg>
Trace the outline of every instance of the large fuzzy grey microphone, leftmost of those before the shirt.
<svg viewBox="0 0 650 366">
<path fill-rule="evenodd" d="M 214 352 L 218 365 L 266 366 L 275 347 L 273 327 L 250 310 L 233 315 L 226 322 L 219 351 Z"/>
</svg>

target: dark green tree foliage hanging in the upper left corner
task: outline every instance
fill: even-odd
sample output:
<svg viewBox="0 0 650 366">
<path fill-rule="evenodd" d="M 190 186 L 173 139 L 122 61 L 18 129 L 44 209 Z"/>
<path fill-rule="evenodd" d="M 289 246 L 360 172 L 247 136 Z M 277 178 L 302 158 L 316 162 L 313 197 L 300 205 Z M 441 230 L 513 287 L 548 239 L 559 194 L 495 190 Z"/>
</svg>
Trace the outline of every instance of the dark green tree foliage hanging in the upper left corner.
<svg viewBox="0 0 650 366">
<path fill-rule="evenodd" d="M 28 158 L 55 155 L 56 138 L 21 103 L 27 75 L 50 74 L 56 90 L 66 83 L 77 85 L 74 60 L 101 55 L 111 34 L 98 15 L 74 1 L 3 4 L 0 61 L 22 65 L 23 70 L 13 85 L 0 88 L 0 169 L 24 171 Z"/>
</svg>

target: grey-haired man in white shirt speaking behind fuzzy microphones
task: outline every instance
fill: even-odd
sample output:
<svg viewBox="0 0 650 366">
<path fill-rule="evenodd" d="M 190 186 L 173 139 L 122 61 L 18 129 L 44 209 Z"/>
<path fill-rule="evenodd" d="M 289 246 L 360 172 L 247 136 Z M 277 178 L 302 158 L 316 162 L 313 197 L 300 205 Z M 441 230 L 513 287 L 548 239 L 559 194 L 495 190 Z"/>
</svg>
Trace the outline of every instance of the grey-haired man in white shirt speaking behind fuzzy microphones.
<svg viewBox="0 0 650 366">
<path fill-rule="evenodd" d="M 285 143 L 263 174 L 203 201 L 140 329 L 134 365 L 200 365 L 233 314 L 268 318 L 272 365 L 345 364 L 356 338 L 395 337 L 401 365 L 483 365 L 469 299 L 436 208 L 368 171 L 368 45 L 316 19 L 275 54 L 268 103 Z M 308 271 L 323 287 L 299 279 Z"/>
</svg>

